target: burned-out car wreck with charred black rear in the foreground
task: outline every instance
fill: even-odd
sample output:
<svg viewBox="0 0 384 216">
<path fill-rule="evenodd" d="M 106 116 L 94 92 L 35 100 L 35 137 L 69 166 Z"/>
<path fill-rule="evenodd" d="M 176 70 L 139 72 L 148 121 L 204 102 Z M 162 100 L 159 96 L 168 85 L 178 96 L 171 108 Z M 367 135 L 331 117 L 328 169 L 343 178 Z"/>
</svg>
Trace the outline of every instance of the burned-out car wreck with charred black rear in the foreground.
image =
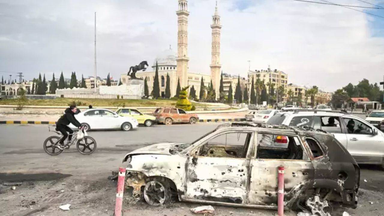
<svg viewBox="0 0 384 216">
<path fill-rule="evenodd" d="M 227 123 L 189 144 L 128 153 L 126 187 L 152 206 L 179 201 L 277 208 L 278 166 L 285 208 L 326 215 L 328 202 L 357 207 L 360 169 L 329 133 L 289 126 Z"/>
</svg>

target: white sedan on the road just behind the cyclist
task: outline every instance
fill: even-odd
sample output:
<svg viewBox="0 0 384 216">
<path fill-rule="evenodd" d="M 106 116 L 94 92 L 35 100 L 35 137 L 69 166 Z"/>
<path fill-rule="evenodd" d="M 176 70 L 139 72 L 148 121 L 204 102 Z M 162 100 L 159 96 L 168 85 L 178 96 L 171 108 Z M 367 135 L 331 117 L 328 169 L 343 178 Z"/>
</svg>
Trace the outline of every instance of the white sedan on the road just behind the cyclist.
<svg viewBox="0 0 384 216">
<path fill-rule="evenodd" d="M 139 123 L 136 119 L 128 116 L 119 116 L 111 110 L 107 109 L 89 109 L 77 115 L 75 118 L 84 126 L 84 130 L 99 130 L 99 129 L 121 129 L 123 131 L 137 128 Z M 70 128 L 76 128 L 70 124 Z"/>
</svg>

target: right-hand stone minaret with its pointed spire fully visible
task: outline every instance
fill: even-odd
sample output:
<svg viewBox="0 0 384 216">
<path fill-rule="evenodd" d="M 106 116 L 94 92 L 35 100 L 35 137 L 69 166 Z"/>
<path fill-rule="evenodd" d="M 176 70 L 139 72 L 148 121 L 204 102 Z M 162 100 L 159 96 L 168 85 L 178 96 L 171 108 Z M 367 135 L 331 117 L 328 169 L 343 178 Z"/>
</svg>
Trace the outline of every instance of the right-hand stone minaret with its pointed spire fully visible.
<svg viewBox="0 0 384 216">
<path fill-rule="evenodd" d="M 212 62 L 211 62 L 211 80 L 216 92 L 216 98 L 219 98 L 220 88 L 220 16 L 217 11 L 217 0 L 215 7 L 215 15 L 212 16 Z"/>
</svg>

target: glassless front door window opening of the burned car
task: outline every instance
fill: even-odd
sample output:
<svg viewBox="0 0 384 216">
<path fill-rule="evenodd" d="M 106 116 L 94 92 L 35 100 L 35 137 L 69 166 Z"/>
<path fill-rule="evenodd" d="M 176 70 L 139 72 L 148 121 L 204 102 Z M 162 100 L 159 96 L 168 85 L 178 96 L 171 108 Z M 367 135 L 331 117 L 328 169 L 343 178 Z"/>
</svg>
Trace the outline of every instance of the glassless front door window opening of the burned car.
<svg viewBox="0 0 384 216">
<path fill-rule="evenodd" d="M 245 158 L 252 133 L 224 133 L 206 141 L 199 156 L 217 158 Z"/>
</svg>

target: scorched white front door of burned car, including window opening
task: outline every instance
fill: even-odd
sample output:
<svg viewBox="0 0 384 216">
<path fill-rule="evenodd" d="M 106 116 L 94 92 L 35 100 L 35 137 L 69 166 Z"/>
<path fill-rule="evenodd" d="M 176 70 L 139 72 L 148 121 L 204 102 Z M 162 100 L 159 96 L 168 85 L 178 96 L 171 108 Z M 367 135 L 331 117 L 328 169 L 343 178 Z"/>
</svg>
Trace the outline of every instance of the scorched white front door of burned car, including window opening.
<svg viewBox="0 0 384 216">
<path fill-rule="evenodd" d="M 252 131 L 226 131 L 202 141 L 187 164 L 185 199 L 245 204 Z"/>
</svg>

